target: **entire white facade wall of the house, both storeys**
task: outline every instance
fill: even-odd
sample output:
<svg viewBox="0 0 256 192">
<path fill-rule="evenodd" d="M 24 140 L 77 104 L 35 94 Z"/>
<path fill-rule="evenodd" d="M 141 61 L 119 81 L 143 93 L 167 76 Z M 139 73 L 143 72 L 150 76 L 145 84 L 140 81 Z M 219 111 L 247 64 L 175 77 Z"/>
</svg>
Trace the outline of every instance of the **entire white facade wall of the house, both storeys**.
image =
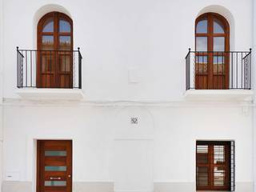
<svg viewBox="0 0 256 192">
<path fill-rule="evenodd" d="M 230 50 L 249 50 L 252 5 L 4 0 L 2 192 L 35 192 L 37 139 L 73 140 L 75 192 L 192 192 L 196 141 L 234 140 L 235 191 L 253 191 L 254 106 L 184 98 L 184 58 L 194 50 L 195 19 L 222 14 L 230 23 Z M 83 56 L 79 101 L 27 100 L 15 88 L 15 48 L 36 49 L 38 19 L 53 10 L 74 22 L 74 48 Z M 131 117 L 138 124 L 131 125 Z"/>
</svg>

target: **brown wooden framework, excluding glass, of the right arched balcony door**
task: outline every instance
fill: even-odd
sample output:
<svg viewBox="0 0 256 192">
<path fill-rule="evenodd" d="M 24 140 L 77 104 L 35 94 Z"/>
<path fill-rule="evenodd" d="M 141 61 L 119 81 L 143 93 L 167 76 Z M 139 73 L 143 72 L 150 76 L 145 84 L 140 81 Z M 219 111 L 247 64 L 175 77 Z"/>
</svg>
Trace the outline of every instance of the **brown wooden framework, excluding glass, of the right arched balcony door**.
<svg viewBox="0 0 256 192">
<path fill-rule="evenodd" d="M 214 18 L 222 22 L 224 26 L 224 34 L 214 34 Z M 208 30 L 206 34 L 197 33 L 198 22 L 206 19 L 208 22 Z M 197 51 L 197 37 L 207 37 L 207 51 L 208 53 L 196 53 L 196 56 L 207 56 L 208 62 L 207 69 L 201 72 L 200 63 L 196 62 L 195 66 L 195 89 L 228 89 L 229 88 L 229 61 L 230 55 L 226 53 L 230 51 L 230 26 L 226 21 L 226 18 L 222 17 L 220 14 L 206 13 L 200 15 L 195 22 L 195 50 Z M 225 38 L 225 51 L 214 53 L 214 37 Z M 224 66 L 222 65 L 218 72 L 214 73 L 214 56 L 219 56 L 224 58 Z M 202 64 L 201 64 L 202 65 Z M 202 67 L 202 66 L 201 66 Z"/>
</svg>

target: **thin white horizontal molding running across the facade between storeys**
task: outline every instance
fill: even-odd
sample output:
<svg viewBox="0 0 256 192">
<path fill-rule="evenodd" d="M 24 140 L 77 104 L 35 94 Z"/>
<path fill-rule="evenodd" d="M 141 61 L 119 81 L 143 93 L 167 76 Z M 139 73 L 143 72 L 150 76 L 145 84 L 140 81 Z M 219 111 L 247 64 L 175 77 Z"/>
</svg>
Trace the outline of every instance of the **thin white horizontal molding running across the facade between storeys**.
<svg viewBox="0 0 256 192">
<path fill-rule="evenodd" d="M 2 106 L 156 106 L 156 107 L 196 107 L 196 106 L 256 106 L 255 102 L 237 101 L 88 101 L 88 100 L 25 100 L 20 98 L 3 98 Z"/>
</svg>

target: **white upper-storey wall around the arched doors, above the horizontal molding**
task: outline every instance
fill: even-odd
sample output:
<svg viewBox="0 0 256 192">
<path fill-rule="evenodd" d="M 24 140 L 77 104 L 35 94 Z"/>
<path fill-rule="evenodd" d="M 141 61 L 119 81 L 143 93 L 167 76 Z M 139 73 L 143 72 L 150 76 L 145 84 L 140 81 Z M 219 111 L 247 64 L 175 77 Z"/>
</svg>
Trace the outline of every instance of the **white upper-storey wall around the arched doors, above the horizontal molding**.
<svg viewBox="0 0 256 192">
<path fill-rule="evenodd" d="M 194 50 L 198 15 L 212 11 L 226 16 L 230 50 L 249 50 L 251 6 L 249 0 L 5 1 L 5 97 L 17 98 L 16 46 L 36 49 L 38 19 L 51 10 L 73 19 L 74 48 L 81 47 L 84 58 L 86 101 L 177 101 L 185 91 L 184 58 L 190 47 Z M 129 82 L 129 70 L 138 74 L 138 83 Z"/>
</svg>

